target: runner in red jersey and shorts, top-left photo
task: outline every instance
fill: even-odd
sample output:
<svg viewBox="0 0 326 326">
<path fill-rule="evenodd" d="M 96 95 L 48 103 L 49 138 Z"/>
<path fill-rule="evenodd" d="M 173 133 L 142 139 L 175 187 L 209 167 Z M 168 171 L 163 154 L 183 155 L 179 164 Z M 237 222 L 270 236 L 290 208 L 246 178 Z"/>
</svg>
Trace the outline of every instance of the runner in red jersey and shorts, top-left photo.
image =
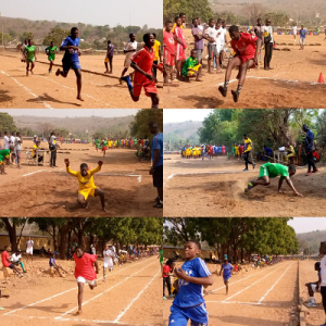
<svg viewBox="0 0 326 326">
<path fill-rule="evenodd" d="M 146 95 L 152 99 L 152 109 L 159 109 L 160 99 L 152 68 L 155 67 L 162 71 L 162 66 L 153 63 L 155 52 L 152 47 L 155 43 L 155 38 L 148 33 L 143 35 L 142 39 L 145 47 L 131 58 L 131 67 L 135 70 L 134 86 L 129 76 L 121 79 L 127 83 L 133 101 L 139 101 L 141 89 L 143 88 Z"/>
</svg>

